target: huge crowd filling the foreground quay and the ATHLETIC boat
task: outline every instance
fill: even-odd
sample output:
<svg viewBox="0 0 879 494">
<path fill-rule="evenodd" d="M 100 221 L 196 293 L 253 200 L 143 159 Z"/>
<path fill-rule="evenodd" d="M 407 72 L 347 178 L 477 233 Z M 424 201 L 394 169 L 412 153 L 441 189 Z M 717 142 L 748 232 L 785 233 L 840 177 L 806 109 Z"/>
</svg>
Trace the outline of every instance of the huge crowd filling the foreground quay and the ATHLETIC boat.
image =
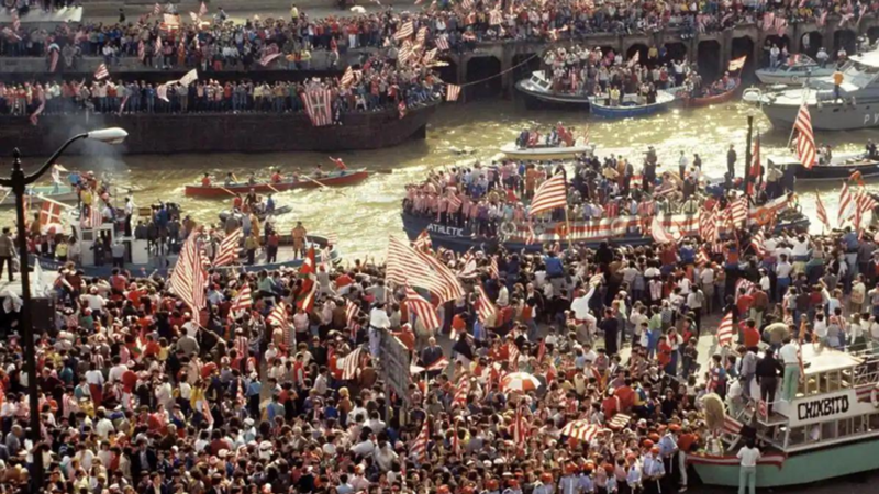
<svg viewBox="0 0 879 494">
<path fill-rule="evenodd" d="M 571 195 L 583 202 L 574 210 L 623 197 L 604 176 L 614 159 L 578 165 Z M 477 167 L 432 176 L 424 189 L 494 204 L 527 195 L 544 173 Z M 419 207 L 421 191 L 410 193 L 407 207 Z M 229 229 L 181 224 L 165 206 L 153 214 L 178 225 L 165 228 L 175 243 L 201 232 L 204 266 Z M 871 235 L 770 229 L 759 251 L 748 236 L 703 259 L 697 237 L 535 254 L 416 242 L 455 273 L 459 291 L 445 299 L 392 282 L 399 266 L 354 260 L 313 271 L 208 268 L 204 305 L 193 308 L 158 273 L 123 263 L 90 278 L 69 263 L 52 288 L 56 317 L 37 328 L 38 411 L 26 400 L 21 338 L 5 328 L 0 474 L 13 491 L 75 494 L 686 490 L 686 454 L 722 453 L 711 396 L 741 409 L 755 398 L 753 380 L 764 396 L 795 394 L 788 360 L 801 319 L 827 347 L 879 341 Z M 0 236 L 0 254 L 9 242 Z M 435 322 L 411 304 L 416 296 L 437 303 Z M 739 335 L 705 356 L 699 338 L 724 314 Z M 405 396 L 383 385 L 388 333 L 418 366 Z M 783 375 L 770 351 L 757 356 L 761 339 Z M 511 383 L 513 372 L 532 384 Z M 36 445 L 31 413 L 42 420 Z M 574 420 L 594 434 L 572 437 Z M 35 453 L 42 486 L 29 473 Z"/>
</svg>

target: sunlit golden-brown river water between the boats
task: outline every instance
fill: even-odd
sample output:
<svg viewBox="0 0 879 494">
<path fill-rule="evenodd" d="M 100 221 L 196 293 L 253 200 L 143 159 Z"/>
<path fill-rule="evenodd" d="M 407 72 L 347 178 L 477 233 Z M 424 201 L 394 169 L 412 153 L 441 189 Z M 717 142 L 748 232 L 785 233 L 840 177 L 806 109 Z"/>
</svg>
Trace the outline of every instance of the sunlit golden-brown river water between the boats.
<svg viewBox="0 0 879 494">
<path fill-rule="evenodd" d="M 311 233 L 335 233 L 343 252 L 353 260 L 366 256 L 383 257 L 389 235 L 403 235 L 400 220 L 400 201 L 404 186 L 424 178 L 430 169 L 454 164 L 490 160 L 498 148 L 512 142 L 525 126 L 544 130 L 556 122 L 575 126 L 579 135 L 589 125 L 590 142 L 597 145 L 599 156 L 622 154 L 634 159 L 636 169 L 641 155 L 648 145 L 656 147 L 660 164 L 677 170 L 678 157 L 683 150 L 690 159 L 698 153 L 708 176 L 719 177 L 726 169 L 726 148 L 735 144 L 738 153 L 737 175 L 744 172 L 746 117 L 755 115 L 755 130 L 763 135 L 763 156 L 787 156 L 783 147 L 790 130 L 774 130 L 763 113 L 741 102 L 703 109 L 675 109 L 646 119 L 608 122 L 590 117 L 585 112 L 531 111 L 512 101 L 479 101 L 467 104 L 446 104 L 439 109 L 427 130 L 426 141 L 413 141 L 390 149 L 343 153 L 349 168 L 365 167 L 378 171 L 355 187 L 333 190 L 299 190 L 283 192 L 277 203 L 290 204 L 293 211 L 279 216 L 281 232 L 289 232 L 297 221 L 303 222 Z M 830 143 L 835 153 L 855 151 L 875 137 L 872 131 L 824 133 L 819 143 Z M 294 138 L 294 137 L 293 137 Z M 472 154 L 460 155 L 455 149 L 471 148 Z M 116 151 L 113 151 L 116 153 Z M 204 171 L 224 177 L 233 171 L 244 180 L 248 172 L 267 177 L 268 168 L 280 167 L 285 172 L 308 171 L 321 164 L 325 170 L 333 164 L 325 154 L 205 154 L 205 155 L 140 155 L 82 156 L 64 158 L 68 168 L 93 170 L 109 176 L 122 188 L 131 188 L 135 202 L 146 205 L 158 200 L 178 202 L 186 214 L 199 222 L 216 222 L 216 213 L 229 201 L 186 198 L 183 186 L 200 180 Z M 764 161 L 765 162 L 765 161 Z M 37 161 L 25 164 L 36 166 Z M 868 184 L 868 187 L 870 187 Z M 803 183 L 798 188 L 803 210 L 814 216 L 817 190 L 835 217 L 839 181 Z M 10 224 L 11 213 L 3 212 L 0 220 Z M 820 231 L 813 221 L 812 228 Z"/>
</svg>

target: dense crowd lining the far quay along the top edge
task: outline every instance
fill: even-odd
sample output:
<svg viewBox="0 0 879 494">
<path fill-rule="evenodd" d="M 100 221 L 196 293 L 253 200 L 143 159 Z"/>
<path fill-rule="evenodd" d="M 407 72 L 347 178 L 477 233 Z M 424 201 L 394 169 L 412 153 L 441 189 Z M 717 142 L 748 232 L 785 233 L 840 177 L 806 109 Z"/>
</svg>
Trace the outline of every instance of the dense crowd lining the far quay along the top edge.
<svg viewBox="0 0 879 494">
<path fill-rule="evenodd" d="M 472 49 L 477 43 L 492 40 L 583 40 L 590 34 L 633 34 L 678 31 L 685 37 L 728 29 L 737 23 L 758 23 L 768 30 L 787 23 L 826 22 L 827 14 L 855 23 L 870 7 L 861 2 L 838 4 L 828 0 L 765 3 L 635 2 L 621 4 L 591 1 L 526 0 L 494 3 L 483 0 L 434 2 L 416 13 L 396 13 L 390 9 L 312 19 L 294 4 L 290 19 L 258 16 L 243 23 L 227 19 L 222 9 L 194 19 L 178 19 L 179 29 L 164 29 L 163 19 L 140 15 L 132 22 L 120 14 L 114 24 L 84 22 L 58 25 L 54 30 L 27 29 L 0 36 L 0 54 L 7 56 L 45 56 L 58 50 L 63 67 L 76 68 L 84 55 L 103 56 L 113 63 L 120 57 L 138 57 L 156 67 L 201 67 L 247 69 L 268 50 L 285 55 L 278 63 L 290 69 L 307 67 L 311 50 L 327 50 L 330 65 L 338 53 L 359 47 L 399 47 L 394 34 L 409 22 L 418 31 L 426 27 L 427 46 L 445 49 Z M 177 14 L 168 4 L 163 14 Z M 186 15 L 183 15 L 186 18 Z M 769 16 L 769 18 L 767 18 Z M 781 25 L 783 24 L 783 25 Z M 157 44 L 157 38 L 160 42 Z"/>
</svg>

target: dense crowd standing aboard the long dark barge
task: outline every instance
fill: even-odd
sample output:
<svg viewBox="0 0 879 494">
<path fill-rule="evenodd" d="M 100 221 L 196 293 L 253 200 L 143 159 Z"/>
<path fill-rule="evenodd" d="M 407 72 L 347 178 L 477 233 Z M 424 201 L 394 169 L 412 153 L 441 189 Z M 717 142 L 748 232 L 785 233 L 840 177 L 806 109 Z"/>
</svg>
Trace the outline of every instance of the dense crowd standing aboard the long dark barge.
<svg viewBox="0 0 879 494">
<path fill-rule="evenodd" d="M 164 86 L 164 87 L 163 87 Z M 437 100 L 442 81 L 425 68 L 381 61 L 374 57 L 349 83 L 340 78 L 305 81 L 220 82 L 197 80 L 154 85 L 138 80 L 0 82 L 0 114 L 30 115 L 45 101 L 42 115 L 80 113 L 193 113 L 193 112 L 301 112 L 303 93 L 315 87 L 332 91 L 333 114 L 407 108 Z M 164 97 L 164 98 L 163 98 Z"/>
</svg>

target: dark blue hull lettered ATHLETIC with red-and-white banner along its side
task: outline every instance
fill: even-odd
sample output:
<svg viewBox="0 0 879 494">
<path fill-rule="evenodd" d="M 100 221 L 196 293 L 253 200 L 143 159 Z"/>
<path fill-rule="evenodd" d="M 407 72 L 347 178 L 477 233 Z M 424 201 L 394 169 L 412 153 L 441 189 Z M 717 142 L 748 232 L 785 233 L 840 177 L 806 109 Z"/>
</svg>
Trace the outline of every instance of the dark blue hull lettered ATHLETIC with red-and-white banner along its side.
<svg viewBox="0 0 879 494">
<path fill-rule="evenodd" d="M 804 231 L 809 227 L 809 218 L 793 209 L 788 209 L 788 197 L 782 195 L 761 206 L 752 207 L 749 224 L 758 224 L 763 218 L 776 214 L 776 229 L 783 228 Z M 650 245 L 654 243 L 649 233 L 645 234 L 645 218 L 641 216 L 617 216 L 591 222 L 571 221 L 570 227 L 565 222 L 514 224 L 503 223 L 499 226 L 499 235 L 493 237 L 478 236 L 466 226 L 448 225 L 437 222 L 435 217 L 422 216 L 403 211 L 403 231 L 410 240 L 415 240 L 423 232 L 427 232 L 434 247 L 443 247 L 456 252 L 466 252 L 471 248 L 496 251 L 503 246 L 510 251 L 542 251 L 546 243 L 574 243 L 589 248 L 598 247 L 602 242 L 612 245 Z M 674 214 L 663 218 L 663 225 L 672 235 L 697 235 L 699 233 L 699 215 Z M 530 229 L 531 228 L 531 229 Z M 721 232 L 724 235 L 724 232 Z M 531 238 L 533 237 L 533 238 Z"/>
</svg>

